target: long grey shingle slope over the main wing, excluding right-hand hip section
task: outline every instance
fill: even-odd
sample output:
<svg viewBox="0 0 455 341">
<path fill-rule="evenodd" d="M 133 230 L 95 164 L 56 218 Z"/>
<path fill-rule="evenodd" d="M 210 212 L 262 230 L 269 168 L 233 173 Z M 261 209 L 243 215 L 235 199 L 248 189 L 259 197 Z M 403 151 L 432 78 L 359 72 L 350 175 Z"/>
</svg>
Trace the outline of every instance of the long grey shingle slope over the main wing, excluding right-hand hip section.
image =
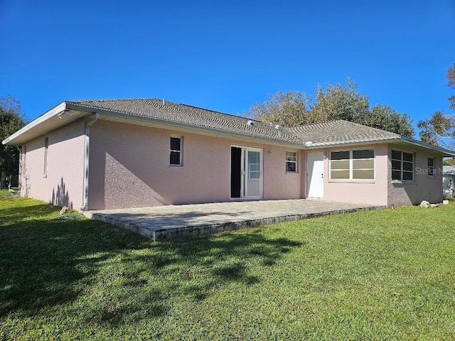
<svg viewBox="0 0 455 341">
<path fill-rule="evenodd" d="M 214 112 L 208 109 L 192 107 L 186 104 L 176 104 L 163 99 L 100 99 L 67 101 L 93 111 L 107 110 L 128 114 L 134 118 L 149 118 L 165 121 L 168 124 L 183 124 L 189 127 L 213 129 L 226 134 L 240 134 L 258 139 L 273 139 L 291 144 L 301 144 L 302 141 L 289 129 L 281 128 L 280 136 L 274 125 L 254 121 L 248 125 L 249 119 L 230 114 Z"/>
</svg>

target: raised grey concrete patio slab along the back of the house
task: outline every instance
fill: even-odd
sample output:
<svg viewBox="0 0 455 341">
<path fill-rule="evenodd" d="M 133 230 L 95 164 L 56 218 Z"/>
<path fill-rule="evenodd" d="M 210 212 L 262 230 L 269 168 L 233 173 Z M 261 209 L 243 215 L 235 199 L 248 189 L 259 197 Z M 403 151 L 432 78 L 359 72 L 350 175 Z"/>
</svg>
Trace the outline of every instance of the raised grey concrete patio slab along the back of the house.
<svg viewBox="0 0 455 341">
<path fill-rule="evenodd" d="M 301 199 L 166 205 L 87 211 L 84 214 L 90 219 L 130 229 L 158 241 L 382 208 L 385 206 Z"/>
</svg>

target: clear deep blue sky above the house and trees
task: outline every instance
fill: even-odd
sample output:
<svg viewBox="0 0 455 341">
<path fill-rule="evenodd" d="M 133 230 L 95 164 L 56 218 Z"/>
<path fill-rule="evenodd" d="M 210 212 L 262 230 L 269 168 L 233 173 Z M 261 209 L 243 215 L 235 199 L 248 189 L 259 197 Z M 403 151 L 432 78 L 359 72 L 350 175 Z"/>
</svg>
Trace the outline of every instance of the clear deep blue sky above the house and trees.
<svg viewBox="0 0 455 341">
<path fill-rule="evenodd" d="M 70 99 L 156 97 L 242 114 L 351 77 L 414 122 L 451 113 L 455 0 L 0 0 L 0 96 L 28 119 Z"/>
</svg>

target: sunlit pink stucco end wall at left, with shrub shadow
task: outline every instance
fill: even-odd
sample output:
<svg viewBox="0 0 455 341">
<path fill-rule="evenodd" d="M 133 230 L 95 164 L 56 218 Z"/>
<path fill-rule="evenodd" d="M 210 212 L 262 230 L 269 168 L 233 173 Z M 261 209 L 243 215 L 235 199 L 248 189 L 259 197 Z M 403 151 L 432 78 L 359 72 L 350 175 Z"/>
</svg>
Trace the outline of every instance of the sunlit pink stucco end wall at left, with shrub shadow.
<svg viewBox="0 0 455 341">
<path fill-rule="evenodd" d="M 21 196 L 53 205 L 82 207 L 85 122 L 76 121 L 22 146 Z M 44 172 L 45 138 L 48 167 Z"/>
</svg>

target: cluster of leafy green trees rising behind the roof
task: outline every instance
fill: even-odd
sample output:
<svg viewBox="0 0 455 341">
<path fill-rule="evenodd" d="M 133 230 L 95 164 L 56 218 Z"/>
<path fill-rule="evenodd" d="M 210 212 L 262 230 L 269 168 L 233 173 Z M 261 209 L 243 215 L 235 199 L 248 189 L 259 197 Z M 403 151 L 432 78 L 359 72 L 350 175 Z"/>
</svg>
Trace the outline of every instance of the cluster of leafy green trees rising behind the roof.
<svg viewBox="0 0 455 341">
<path fill-rule="evenodd" d="M 407 114 L 399 114 L 389 106 L 378 104 L 371 108 L 368 97 L 357 90 L 348 79 L 347 86 L 340 84 L 318 85 L 315 99 L 304 92 L 277 92 L 269 100 L 257 103 L 245 113 L 259 121 L 283 126 L 300 126 L 344 119 L 378 129 L 392 131 L 406 137 L 415 134 L 412 120 Z"/>
</svg>

